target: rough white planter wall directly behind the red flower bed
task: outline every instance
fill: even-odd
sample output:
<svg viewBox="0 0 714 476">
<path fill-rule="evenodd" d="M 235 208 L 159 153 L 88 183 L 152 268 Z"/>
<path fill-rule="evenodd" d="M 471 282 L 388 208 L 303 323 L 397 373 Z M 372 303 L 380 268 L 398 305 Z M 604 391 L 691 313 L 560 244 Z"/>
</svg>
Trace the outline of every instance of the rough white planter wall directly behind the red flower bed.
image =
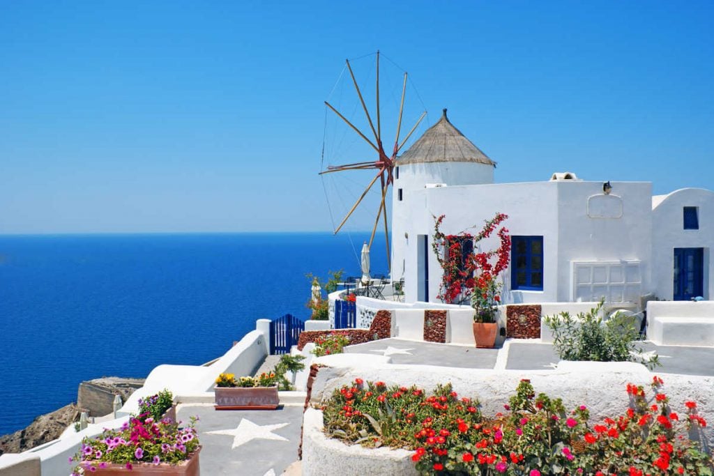
<svg viewBox="0 0 714 476">
<path fill-rule="evenodd" d="M 567 410 L 587 405 L 590 422 L 600 422 L 604 417 L 622 415 L 628 408 L 626 385 L 643 385 L 648 395 L 653 375 L 637 363 L 568 362 L 559 363 L 556 370 L 491 370 L 468 368 L 443 368 L 430 365 L 361 366 L 358 359 L 345 362 L 336 368 L 322 368 L 313 383 L 311 403 L 322 405 L 333 390 L 341 385 L 351 385 L 355 378 L 365 381 L 381 380 L 387 385 L 417 385 L 431 391 L 438 384 L 451 382 L 453 389 L 466 397 L 478 397 L 482 411 L 495 415 L 503 411 L 518 383 L 523 378 L 531 380 L 536 393 L 563 398 Z M 670 398 L 670 406 L 682 414 L 685 402 L 698 402 L 699 414 L 708 422 L 714 421 L 714 377 L 699 375 L 660 375 L 665 385 L 663 392 Z M 709 447 L 714 445 L 711 426 L 700 434 Z M 378 473 L 393 474 L 393 473 Z"/>
</svg>

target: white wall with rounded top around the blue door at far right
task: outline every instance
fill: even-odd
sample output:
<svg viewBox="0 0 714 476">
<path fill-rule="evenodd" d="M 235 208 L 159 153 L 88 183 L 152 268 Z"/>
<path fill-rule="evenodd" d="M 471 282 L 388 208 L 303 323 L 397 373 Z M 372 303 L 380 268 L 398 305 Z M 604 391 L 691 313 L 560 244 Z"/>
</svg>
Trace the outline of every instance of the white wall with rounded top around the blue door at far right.
<svg viewBox="0 0 714 476">
<path fill-rule="evenodd" d="M 683 207 L 699 208 L 699 229 L 685 230 Z M 653 291 L 660 299 L 673 298 L 674 248 L 704 248 L 703 298 L 714 298 L 714 192 L 683 188 L 653 197 Z"/>
</svg>

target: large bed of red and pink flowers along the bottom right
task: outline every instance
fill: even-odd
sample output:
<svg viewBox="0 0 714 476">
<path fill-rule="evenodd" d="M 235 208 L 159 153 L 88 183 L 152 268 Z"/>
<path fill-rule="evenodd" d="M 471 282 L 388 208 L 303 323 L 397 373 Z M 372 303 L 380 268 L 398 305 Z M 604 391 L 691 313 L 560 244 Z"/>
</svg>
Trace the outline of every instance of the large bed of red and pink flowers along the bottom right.
<svg viewBox="0 0 714 476">
<path fill-rule="evenodd" d="M 642 385 L 628 384 L 626 411 L 593 423 L 588 407 L 568 411 L 559 398 L 536 396 L 529 380 L 495 415 L 482 415 L 478 402 L 458 397 L 451 385 L 426 395 L 358 378 L 322 409 L 328 435 L 408 448 L 421 474 L 711 474 L 711 457 L 685 437 L 706 425 L 696 403 L 673 409 L 662 383 L 653 378 L 651 397 Z"/>
</svg>

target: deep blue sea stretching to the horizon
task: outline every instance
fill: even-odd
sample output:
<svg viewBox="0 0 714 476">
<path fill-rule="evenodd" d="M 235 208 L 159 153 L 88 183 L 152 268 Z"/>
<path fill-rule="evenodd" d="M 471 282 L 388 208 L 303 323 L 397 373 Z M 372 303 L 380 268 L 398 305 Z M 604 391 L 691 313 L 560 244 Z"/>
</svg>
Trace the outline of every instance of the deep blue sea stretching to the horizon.
<svg viewBox="0 0 714 476">
<path fill-rule="evenodd" d="M 359 275 L 366 233 L 0 236 L 0 435 L 82 380 L 223 355 L 258 318 L 309 318 L 306 273 Z M 387 273 L 376 236 L 373 273 Z"/>
</svg>

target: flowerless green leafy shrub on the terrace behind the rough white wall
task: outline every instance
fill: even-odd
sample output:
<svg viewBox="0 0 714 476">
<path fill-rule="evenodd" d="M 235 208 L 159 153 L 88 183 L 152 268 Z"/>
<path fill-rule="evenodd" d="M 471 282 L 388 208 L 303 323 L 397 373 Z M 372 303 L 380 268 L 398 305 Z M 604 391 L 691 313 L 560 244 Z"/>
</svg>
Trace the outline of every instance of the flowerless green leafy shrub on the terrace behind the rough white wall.
<svg viewBox="0 0 714 476">
<path fill-rule="evenodd" d="M 631 318 L 620 313 L 605 321 L 598 316 L 603 308 L 601 300 L 587 313 L 573 317 L 563 312 L 545 316 L 545 324 L 553 332 L 553 346 L 563 360 L 595 360 L 598 362 L 627 362 L 642 360 L 638 355 L 639 332 Z M 656 355 L 645 362 L 648 368 L 660 365 Z"/>
</svg>

